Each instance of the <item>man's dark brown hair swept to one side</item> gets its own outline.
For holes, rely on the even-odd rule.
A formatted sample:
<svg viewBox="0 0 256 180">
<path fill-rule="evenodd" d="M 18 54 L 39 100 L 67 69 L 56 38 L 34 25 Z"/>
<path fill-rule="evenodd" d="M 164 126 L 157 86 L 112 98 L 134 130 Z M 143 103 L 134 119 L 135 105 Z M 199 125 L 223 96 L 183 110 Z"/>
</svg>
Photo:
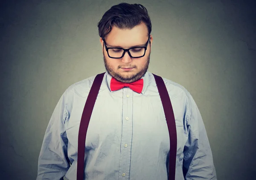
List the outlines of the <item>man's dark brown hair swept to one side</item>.
<svg viewBox="0 0 256 180">
<path fill-rule="evenodd" d="M 97 24 L 99 36 L 104 38 L 108 35 L 113 26 L 117 28 L 134 28 L 140 23 L 145 23 L 148 27 L 148 36 L 151 33 L 151 20 L 147 9 L 141 4 L 120 3 L 112 6 Z"/>
</svg>

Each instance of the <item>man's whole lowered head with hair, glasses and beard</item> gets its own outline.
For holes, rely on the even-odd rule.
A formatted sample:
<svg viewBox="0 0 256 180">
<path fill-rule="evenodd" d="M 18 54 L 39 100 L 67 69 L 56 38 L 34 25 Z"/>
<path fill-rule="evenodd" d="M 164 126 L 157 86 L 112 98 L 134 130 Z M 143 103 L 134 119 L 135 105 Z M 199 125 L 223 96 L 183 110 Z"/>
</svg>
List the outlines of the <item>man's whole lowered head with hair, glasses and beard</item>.
<svg viewBox="0 0 256 180">
<path fill-rule="evenodd" d="M 151 21 L 146 8 L 127 3 L 112 6 L 98 27 L 108 73 L 126 83 L 140 79 L 148 70 L 152 43 Z M 118 48 L 134 49 L 123 53 Z"/>
</svg>

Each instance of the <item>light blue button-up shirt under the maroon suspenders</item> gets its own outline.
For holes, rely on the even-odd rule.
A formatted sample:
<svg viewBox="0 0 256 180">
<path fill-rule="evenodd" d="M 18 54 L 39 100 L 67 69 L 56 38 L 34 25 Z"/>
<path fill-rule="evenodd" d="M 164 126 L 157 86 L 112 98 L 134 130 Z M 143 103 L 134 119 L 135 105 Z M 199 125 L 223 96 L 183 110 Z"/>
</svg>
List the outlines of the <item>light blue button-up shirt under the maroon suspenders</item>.
<svg viewBox="0 0 256 180">
<path fill-rule="evenodd" d="M 37 180 L 76 180 L 81 115 L 95 76 L 63 93 L 50 118 L 38 160 Z M 152 73 L 143 91 L 111 91 L 105 73 L 85 142 L 86 180 L 167 180 L 169 131 Z M 176 180 L 216 180 L 212 152 L 189 92 L 164 79 L 177 129 Z"/>
</svg>

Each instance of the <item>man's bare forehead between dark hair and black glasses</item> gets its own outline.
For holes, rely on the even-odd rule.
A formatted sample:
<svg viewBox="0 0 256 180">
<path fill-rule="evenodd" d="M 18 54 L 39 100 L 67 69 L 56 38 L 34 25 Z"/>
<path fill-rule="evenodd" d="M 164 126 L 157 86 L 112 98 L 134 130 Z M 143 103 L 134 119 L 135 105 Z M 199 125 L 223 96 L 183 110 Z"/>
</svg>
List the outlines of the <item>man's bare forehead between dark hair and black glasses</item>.
<svg viewBox="0 0 256 180">
<path fill-rule="evenodd" d="M 120 29 L 113 26 L 105 40 L 108 46 L 129 48 L 135 45 L 142 45 L 148 40 L 148 28 L 144 23 L 131 29 Z"/>
</svg>

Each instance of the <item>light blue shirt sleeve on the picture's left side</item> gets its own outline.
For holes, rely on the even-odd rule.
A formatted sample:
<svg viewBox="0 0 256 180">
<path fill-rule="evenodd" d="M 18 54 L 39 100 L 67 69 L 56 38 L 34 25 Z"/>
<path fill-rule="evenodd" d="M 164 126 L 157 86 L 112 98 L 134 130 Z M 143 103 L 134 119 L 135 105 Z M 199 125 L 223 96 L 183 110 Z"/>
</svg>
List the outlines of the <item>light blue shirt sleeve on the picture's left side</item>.
<svg viewBox="0 0 256 180">
<path fill-rule="evenodd" d="M 70 167 L 67 156 L 67 135 L 65 130 L 65 93 L 56 105 L 47 126 L 38 158 L 36 180 L 63 180 Z"/>
</svg>

